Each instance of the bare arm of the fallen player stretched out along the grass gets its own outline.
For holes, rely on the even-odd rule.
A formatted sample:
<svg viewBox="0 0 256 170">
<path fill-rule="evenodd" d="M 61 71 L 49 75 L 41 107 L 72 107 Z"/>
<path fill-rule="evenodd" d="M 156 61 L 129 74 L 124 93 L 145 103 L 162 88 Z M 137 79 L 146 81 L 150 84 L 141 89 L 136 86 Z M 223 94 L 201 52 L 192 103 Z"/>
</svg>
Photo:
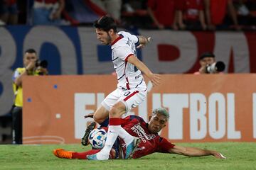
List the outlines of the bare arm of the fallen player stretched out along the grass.
<svg viewBox="0 0 256 170">
<path fill-rule="evenodd" d="M 218 159 L 225 159 L 223 154 L 220 154 L 219 152 L 216 152 L 213 150 L 200 149 L 197 147 L 174 146 L 174 148 L 169 149 L 169 152 L 174 154 L 182 154 L 188 157 L 201 157 L 201 156 L 212 155 Z"/>
</svg>

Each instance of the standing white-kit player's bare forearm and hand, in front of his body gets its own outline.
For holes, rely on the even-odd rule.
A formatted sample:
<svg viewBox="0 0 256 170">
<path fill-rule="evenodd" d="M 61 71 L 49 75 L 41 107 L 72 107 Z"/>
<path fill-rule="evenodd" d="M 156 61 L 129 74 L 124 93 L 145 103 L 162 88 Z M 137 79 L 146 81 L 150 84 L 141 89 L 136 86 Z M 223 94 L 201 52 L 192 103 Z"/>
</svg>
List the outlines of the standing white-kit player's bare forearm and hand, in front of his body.
<svg viewBox="0 0 256 170">
<path fill-rule="evenodd" d="M 137 59 L 137 57 L 135 57 L 134 55 L 130 56 L 128 58 L 128 62 L 134 64 L 134 66 L 136 66 L 140 71 L 142 71 L 146 75 L 146 77 L 149 78 L 153 86 L 158 86 L 160 84 L 160 75 L 152 73 L 143 62 Z"/>
</svg>

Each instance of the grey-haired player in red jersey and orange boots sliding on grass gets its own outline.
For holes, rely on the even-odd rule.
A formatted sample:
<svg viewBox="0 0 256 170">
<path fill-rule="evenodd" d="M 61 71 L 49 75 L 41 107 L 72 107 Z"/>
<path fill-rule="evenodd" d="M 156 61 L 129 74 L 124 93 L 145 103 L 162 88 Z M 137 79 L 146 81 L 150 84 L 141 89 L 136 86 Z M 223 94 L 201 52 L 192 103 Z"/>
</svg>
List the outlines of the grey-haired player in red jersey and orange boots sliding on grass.
<svg viewBox="0 0 256 170">
<path fill-rule="evenodd" d="M 225 159 L 223 154 L 213 150 L 200 149 L 196 147 L 181 147 L 174 145 L 160 137 L 158 132 L 166 126 L 169 120 L 169 113 L 164 108 L 157 108 L 149 117 L 149 123 L 146 123 L 142 118 L 137 115 L 129 115 L 122 121 L 122 128 L 134 136 L 139 137 L 141 142 L 135 149 L 134 153 L 130 156 L 134 159 L 144 157 L 154 152 L 182 154 L 188 157 L 199 157 L 213 155 L 219 159 Z M 123 159 L 125 157 L 125 146 L 122 145 L 122 139 L 119 139 L 119 148 L 113 148 L 110 152 L 110 159 Z M 87 152 L 71 152 L 65 149 L 55 149 L 53 154 L 59 158 L 65 159 L 87 159 L 87 155 L 100 152 L 100 149 L 92 149 Z"/>
</svg>

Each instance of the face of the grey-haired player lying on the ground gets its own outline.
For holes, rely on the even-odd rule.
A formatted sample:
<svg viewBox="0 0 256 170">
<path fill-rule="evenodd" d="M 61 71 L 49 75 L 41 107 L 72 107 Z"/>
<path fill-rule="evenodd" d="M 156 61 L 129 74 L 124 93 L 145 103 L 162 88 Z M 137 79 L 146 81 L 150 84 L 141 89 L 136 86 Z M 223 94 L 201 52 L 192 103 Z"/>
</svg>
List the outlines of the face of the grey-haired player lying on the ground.
<svg viewBox="0 0 256 170">
<path fill-rule="evenodd" d="M 149 118 L 149 131 L 152 133 L 158 133 L 166 126 L 166 123 L 166 116 L 156 113 L 156 115 Z"/>
</svg>

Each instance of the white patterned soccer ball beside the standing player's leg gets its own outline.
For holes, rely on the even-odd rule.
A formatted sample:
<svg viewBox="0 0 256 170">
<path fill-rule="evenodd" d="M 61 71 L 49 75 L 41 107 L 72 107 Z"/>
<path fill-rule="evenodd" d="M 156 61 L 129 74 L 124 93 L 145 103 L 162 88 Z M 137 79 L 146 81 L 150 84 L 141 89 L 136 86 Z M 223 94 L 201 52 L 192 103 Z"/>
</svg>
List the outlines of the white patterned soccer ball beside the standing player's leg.
<svg viewBox="0 0 256 170">
<path fill-rule="evenodd" d="M 107 132 L 104 129 L 96 128 L 89 134 L 89 142 L 95 149 L 102 149 L 107 140 Z"/>
</svg>

